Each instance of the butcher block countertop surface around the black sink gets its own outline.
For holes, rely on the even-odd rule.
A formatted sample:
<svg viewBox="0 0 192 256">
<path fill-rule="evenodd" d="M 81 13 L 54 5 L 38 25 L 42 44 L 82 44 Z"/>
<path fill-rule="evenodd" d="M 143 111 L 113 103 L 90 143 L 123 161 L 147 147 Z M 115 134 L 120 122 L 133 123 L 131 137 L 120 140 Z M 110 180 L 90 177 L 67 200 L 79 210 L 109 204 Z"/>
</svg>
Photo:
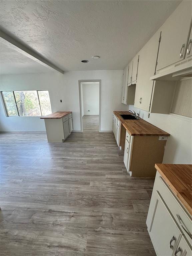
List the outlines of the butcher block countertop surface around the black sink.
<svg viewBox="0 0 192 256">
<path fill-rule="evenodd" d="M 113 111 L 125 129 L 131 136 L 170 136 L 169 133 L 139 118 L 134 120 L 124 120 L 120 115 L 132 115 L 128 111 Z"/>
</svg>

